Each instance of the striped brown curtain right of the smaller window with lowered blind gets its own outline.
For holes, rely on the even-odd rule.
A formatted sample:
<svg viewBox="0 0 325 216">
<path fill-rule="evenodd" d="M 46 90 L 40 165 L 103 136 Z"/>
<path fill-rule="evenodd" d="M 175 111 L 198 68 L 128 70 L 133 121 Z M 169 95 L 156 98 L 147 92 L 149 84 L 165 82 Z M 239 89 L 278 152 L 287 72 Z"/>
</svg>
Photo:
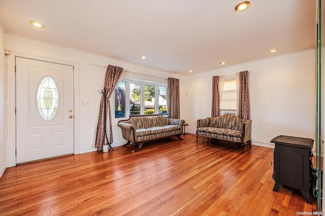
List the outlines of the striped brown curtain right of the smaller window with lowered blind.
<svg viewBox="0 0 325 216">
<path fill-rule="evenodd" d="M 239 73 L 238 117 L 250 119 L 249 72 L 247 70 Z"/>
</svg>

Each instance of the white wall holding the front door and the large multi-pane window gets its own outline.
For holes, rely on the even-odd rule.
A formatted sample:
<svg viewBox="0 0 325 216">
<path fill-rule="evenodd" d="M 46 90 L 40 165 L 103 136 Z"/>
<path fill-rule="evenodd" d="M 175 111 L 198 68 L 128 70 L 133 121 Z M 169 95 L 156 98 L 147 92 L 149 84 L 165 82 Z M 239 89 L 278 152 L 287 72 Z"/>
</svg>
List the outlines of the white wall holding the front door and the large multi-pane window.
<svg viewBox="0 0 325 216">
<path fill-rule="evenodd" d="M 79 114 L 76 116 L 76 118 L 79 120 L 78 139 L 80 153 L 94 151 L 92 144 L 94 141 L 95 128 L 98 120 L 98 108 L 101 99 L 101 94 L 99 91 L 102 89 L 102 83 L 106 73 L 105 67 L 93 66 L 89 65 L 88 63 L 97 65 L 111 64 L 120 66 L 124 69 L 143 74 L 133 75 L 134 77 L 143 80 L 159 79 L 152 78 L 150 75 L 161 78 L 173 77 L 180 79 L 180 89 L 182 92 L 180 95 L 180 105 L 181 113 L 184 113 L 184 91 L 182 91 L 182 89 L 185 86 L 184 82 L 186 78 L 181 75 L 144 67 L 137 64 L 127 63 L 104 56 L 73 50 L 66 47 L 56 46 L 42 41 L 23 38 L 13 34 L 6 34 L 6 49 L 11 50 L 11 52 L 14 54 L 20 53 L 30 55 L 32 58 L 49 58 L 53 59 L 53 61 L 59 60 L 78 64 L 78 70 L 75 71 L 75 73 L 78 73 L 79 77 L 79 92 L 77 92 L 79 94 L 79 98 L 75 99 L 79 101 L 79 105 L 77 107 L 79 109 Z M 11 72 L 9 71 L 9 73 Z M 112 99 L 112 101 L 114 101 L 114 98 Z M 89 101 L 89 106 L 81 106 L 81 101 L 85 100 Z M 181 114 L 181 118 L 184 118 L 183 114 Z M 114 142 L 112 146 L 114 147 L 124 144 L 125 140 L 122 138 L 120 128 L 117 127 L 117 122 L 113 122 L 113 125 Z M 15 144 L 9 143 L 9 145 Z"/>
</svg>

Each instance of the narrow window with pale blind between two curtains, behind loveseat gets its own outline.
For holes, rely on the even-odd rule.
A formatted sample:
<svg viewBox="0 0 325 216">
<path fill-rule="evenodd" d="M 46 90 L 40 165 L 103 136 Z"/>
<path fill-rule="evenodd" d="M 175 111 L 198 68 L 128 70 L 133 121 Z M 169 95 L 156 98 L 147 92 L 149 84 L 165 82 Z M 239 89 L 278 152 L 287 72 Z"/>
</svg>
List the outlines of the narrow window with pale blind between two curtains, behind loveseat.
<svg viewBox="0 0 325 216">
<path fill-rule="evenodd" d="M 220 115 L 223 114 L 237 115 L 237 85 L 234 78 L 224 81 L 220 101 Z"/>
</svg>

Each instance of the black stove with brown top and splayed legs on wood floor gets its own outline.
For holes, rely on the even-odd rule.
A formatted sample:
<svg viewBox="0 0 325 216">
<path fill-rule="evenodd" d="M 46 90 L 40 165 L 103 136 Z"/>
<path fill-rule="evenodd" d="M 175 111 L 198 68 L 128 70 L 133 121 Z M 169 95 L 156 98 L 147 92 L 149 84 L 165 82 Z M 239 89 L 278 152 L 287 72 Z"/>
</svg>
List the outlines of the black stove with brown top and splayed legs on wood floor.
<svg viewBox="0 0 325 216">
<path fill-rule="evenodd" d="M 275 185 L 278 191 L 281 185 L 300 190 L 305 201 L 311 202 L 310 177 L 312 172 L 313 139 L 280 135 L 271 140 L 274 148 Z"/>
</svg>

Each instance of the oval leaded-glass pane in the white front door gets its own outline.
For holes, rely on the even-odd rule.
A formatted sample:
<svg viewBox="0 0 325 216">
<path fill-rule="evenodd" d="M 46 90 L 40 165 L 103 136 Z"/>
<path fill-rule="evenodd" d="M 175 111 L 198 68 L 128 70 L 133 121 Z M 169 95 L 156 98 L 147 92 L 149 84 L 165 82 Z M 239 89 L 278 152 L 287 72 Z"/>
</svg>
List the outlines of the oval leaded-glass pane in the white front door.
<svg viewBox="0 0 325 216">
<path fill-rule="evenodd" d="M 36 100 L 41 117 L 46 121 L 53 119 L 57 113 L 59 95 L 57 85 L 51 77 L 44 77 L 41 80 Z"/>
</svg>

